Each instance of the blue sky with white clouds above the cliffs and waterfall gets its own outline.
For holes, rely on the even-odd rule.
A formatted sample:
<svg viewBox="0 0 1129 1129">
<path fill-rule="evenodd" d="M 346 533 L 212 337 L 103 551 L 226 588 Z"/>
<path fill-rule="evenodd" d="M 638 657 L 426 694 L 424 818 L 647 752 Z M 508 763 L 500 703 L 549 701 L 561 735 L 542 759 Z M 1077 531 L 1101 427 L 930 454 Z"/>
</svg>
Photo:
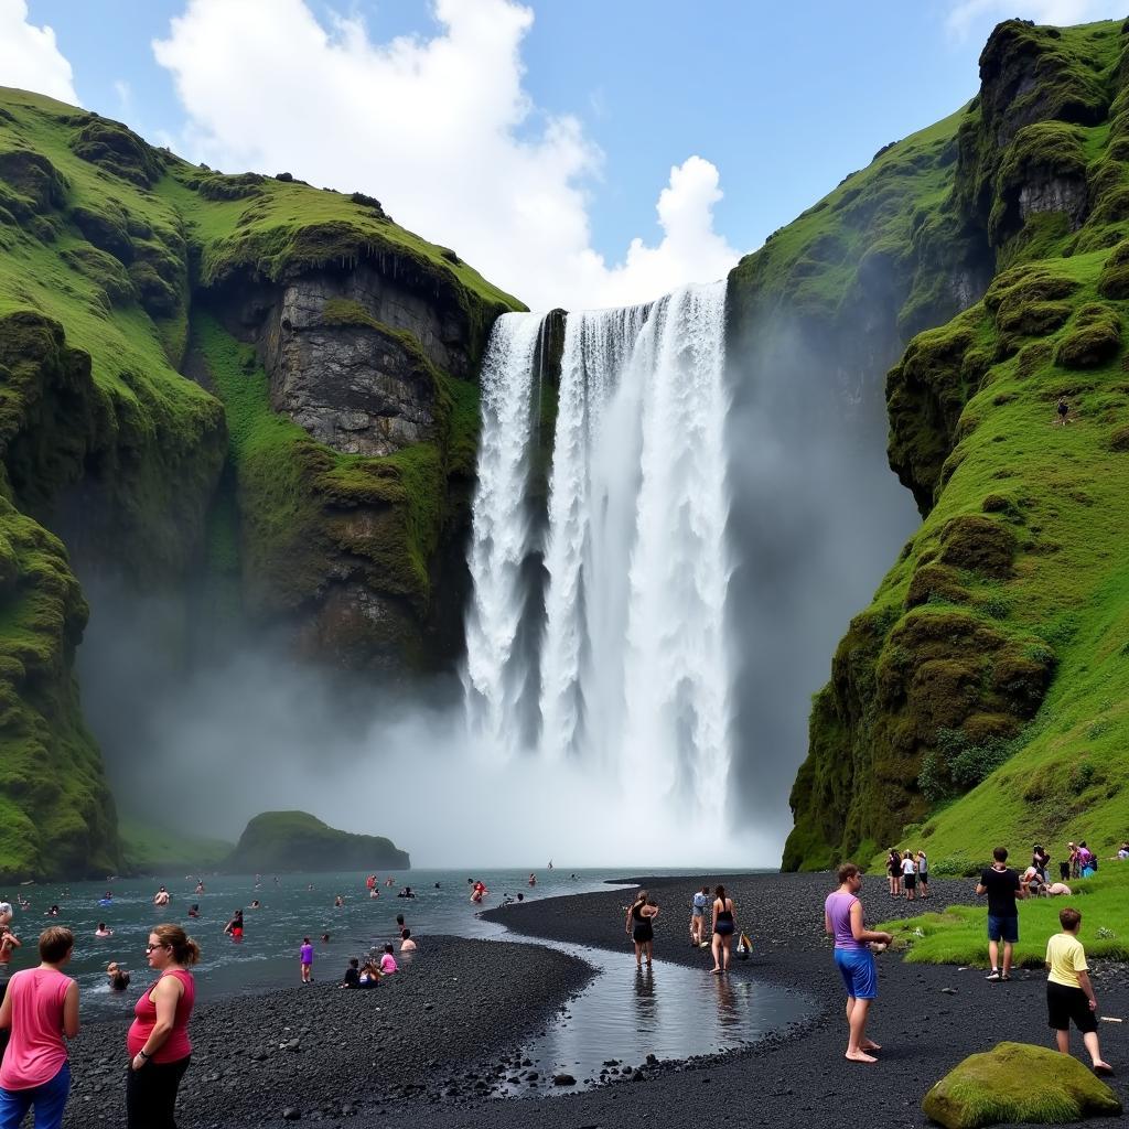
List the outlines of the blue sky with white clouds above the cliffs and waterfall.
<svg viewBox="0 0 1129 1129">
<path fill-rule="evenodd" d="M 881 146 L 971 97 L 998 19 L 1118 15 L 1102 0 L 524 7 L 532 24 L 507 0 L 0 0 L 9 19 L 23 8 L 54 30 L 84 105 L 225 170 L 281 161 L 364 189 L 532 305 L 572 306 L 723 272 Z M 461 32 L 467 9 L 489 18 Z M 514 12 L 519 28 L 498 18 Z M 414 49 L 382 78 L 395 36 Z M 161 61 L 154 41 L 172 44 Z M 30 85 L 26 52 L 8 65 Z M 0 49 L 0 84 L 14 81 Z M 465 121 L 448 120 L 463 103 Z M 348 130 L 323 128 L 342 119 Z M 660 228 L 659 192 L 694 156 Z"/>
</svg>

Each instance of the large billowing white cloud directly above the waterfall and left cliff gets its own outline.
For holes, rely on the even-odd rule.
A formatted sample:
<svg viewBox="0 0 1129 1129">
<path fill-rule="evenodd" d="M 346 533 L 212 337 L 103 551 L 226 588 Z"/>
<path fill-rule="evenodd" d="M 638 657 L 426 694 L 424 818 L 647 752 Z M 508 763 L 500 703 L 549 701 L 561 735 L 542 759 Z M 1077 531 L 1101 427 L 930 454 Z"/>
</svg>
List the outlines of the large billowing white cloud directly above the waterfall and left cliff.
<svg viewBox="0 0 1129 1129">
<path fill-rule="evenodd" d="M 724 274 L 717 169 L 691 157 L 658 202 L 662 240 L 609 265 L 592 247 L 587 185 L 602 155 L 570 115 L 523 88 L 533 14 L 513 0 L 436 0 L 439 32 L 379 43 L 358 19 L 324 26 L 305 0 L 189 0 L 154 43 L 191 121 L 191 156 L 288 170 L 378 196 L 535 308 L 619 305 Z"/>
</svg>

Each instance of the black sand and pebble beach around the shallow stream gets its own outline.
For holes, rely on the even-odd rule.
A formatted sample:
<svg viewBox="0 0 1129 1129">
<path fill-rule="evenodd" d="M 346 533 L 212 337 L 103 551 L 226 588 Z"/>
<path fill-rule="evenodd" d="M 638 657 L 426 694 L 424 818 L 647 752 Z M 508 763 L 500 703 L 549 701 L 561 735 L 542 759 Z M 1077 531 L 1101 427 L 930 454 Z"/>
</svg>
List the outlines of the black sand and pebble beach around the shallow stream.
<svg viewBox="0 0 1129 1129">
<path fill-rule="evenodd" d="M 688 944 L 684 909 L 701 882 L 654 878 L 646 884 L 666 908 L 656 930 L 656 959 L 701 968 L 704 990 L 711 962 L 706 951 Z M 830 1129 L 844 1119 L 867 1127 L 919 1127 L 927 1123 L 920 1112 L 926 1089 L 965 1056 L 1005 1039 L 1050 1044 L 1041 973 L 1021 970 L 1010 983 L 987 983 L 982 969 L 909 965 L 883 956 L 868 1032 L 883 1045 L 881 1061 L 847 1062 L 842 986 L 822 929 L 830 885 L 829 875 L 727 879 L 738 924 L 754 942 L 753 959 L 734 962 L 730 975 L 802 988 L 819 1000 L 817 1014 L 788 1038 L 689 1064 L 630 1064 L 641 1067 L 631 1082 L 585 1093 L 490 1099 L 509 1053 L 543 1030 L 585 983 L 586 966 L 540 947 L 432 939 L 414 968 L 375 991 L 315 984 L 201 1007 L 178 1122 L 185 1129 L 281 1127 L 299 1114 L 304 1122 L 345 1115 L 352 1124 L 385 1129 L 534 1123 L 581 1129 L 640 1119 L 669 1129 L 717 1121 Z M 881 877 L 868 878 L 863 892 L 867 920 L 970 900 L 966 879 L 930 886 L 933 898 L 925 903 L 895 903 Z M 615 889 L 488 916 L 528 937 L 624 952 L 625 901 L 625 891 Z M 1095 962 L 1093 974 L 1103 1013 L 1129 1018 L 1129 969 Z M 1123 1102 L 1129 1102 L 1127 1029 L 1129 1023 L 1101 1025 L 1103 1052 L 1119 1071 L 1112 1084 Z M 299 1040 L 296 1050 L 280 1049 L 294 1039 Z M 124 1024 L 84 1032 L 72 1059 L 68 1126 L 121 1123 L 116 1051 L 123 1040 Z M 1077 1036 L 1075 1042 L 1084 1053 Z M 290 1118 L 283 1119 L 285 1110 Z"/>
</svg>

